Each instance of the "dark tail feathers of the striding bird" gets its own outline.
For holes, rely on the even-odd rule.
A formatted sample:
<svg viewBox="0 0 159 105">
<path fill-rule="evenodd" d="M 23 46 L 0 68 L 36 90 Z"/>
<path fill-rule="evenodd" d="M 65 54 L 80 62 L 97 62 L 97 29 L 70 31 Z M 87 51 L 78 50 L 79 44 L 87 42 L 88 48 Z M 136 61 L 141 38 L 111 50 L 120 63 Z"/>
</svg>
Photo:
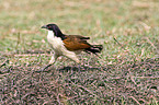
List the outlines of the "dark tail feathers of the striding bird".
<svg viewBox="0 0 159 105">
<path fill-rule="evenodd" d="M 103 49 L 102 45 L 92 45 L 90 48 L 87 48 L 86 51 L 88 54 L 93 52 L 96 55 L 96 52 L 101 52 L 102 49 Z"/>
</svg>

